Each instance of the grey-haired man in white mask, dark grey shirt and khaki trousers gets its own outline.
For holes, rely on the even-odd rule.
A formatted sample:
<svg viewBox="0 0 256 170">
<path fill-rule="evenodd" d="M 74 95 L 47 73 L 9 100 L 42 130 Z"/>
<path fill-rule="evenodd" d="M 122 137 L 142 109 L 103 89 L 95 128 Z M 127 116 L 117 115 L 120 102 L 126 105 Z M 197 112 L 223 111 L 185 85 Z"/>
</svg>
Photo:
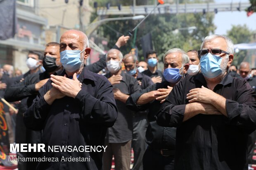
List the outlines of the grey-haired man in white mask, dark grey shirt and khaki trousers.
<svg viewBox="0 0 256 170">
<path fill-rule="evenodd" d="M 114 97 L 118 108 L 118 117 L 113 127 L 108 129 L 107 151 L 104 153 L 104 170 L 111 169 L 112 157 L 115 170 L 130 169 L 131 140 L 133 138 L 133 111 L 125 102 L 129 95 L 140 90 L 137 80 L 122 71 L 123 54 L 117 49 L 110 49 L 106 55 L 107 69 L 105 75 L 113 85 Z M 115 79 L 119 78 L 119 79 Z"/>
</svg>

